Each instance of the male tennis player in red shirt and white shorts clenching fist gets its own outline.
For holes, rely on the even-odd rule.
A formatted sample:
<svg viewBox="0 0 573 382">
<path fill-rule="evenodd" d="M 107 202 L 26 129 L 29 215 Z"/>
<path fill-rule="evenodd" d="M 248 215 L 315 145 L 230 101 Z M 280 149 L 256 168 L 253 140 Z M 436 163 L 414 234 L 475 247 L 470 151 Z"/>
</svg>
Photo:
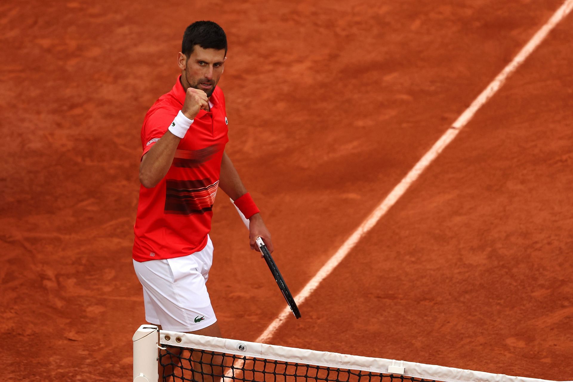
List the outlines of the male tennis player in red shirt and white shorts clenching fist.
<svg viewBox="0 0 573 382">
<path fill-rule="evenodd" d="M 205 283 L 213 262 L 209 238 L 220 187 L 249 220 L 251 249 L 270 233 L 225 153 L 225 97 L 217 86 L 227 54 L 223 29 L 198 21 L 185 30 L 181 75 L 147 112 L 133 259 L 146 320 L 165 330 L 221 336 Z"/>
</svg>

